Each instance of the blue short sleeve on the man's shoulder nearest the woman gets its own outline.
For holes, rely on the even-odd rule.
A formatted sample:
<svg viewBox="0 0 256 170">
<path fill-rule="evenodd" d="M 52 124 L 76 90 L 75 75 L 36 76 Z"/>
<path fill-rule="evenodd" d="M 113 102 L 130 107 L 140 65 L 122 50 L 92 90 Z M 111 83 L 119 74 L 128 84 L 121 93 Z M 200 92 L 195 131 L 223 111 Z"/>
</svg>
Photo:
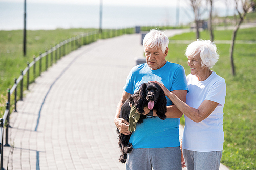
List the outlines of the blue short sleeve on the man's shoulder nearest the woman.
<svg viewBox="0 0 256 170">
<path fill-rule="evenodd" d="M 179 66 L 175 70 L 175 74 L 172 78 L 172 87 L 171 87 L 170 91 L 174 91 L 174 90 L 187 90 L 187 92 L 189 92 L 188 86 L 187 86 L 185 70 L 182 66 Z"/>
</svg>

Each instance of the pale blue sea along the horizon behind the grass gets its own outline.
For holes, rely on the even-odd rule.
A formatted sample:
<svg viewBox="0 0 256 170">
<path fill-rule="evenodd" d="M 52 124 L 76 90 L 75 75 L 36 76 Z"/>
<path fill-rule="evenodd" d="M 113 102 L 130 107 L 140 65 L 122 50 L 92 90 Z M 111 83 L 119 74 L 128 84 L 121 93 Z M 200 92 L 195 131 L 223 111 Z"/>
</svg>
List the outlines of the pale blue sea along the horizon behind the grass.
<svg viewBox="0 0 256 170">
<path fill-rule="evenodd" d="M 70 4 L 27 3 L 27 29 L 98 28 L 99 6 Z M 125 28 L 187 24 L 193 21 L 190 9 L 180 8 L 176 20 L 176 7 L 104 6 L 102 28 Z M 225 16 L 226 9 L 216 9 Z M 229 10 L 228 15 L 233 15 Z M 208 14 L 204 15 L 207 18 Z M 17 30 L 24 27 L 24 3 L 0 2 L 0 30 Z"/>
</svg>

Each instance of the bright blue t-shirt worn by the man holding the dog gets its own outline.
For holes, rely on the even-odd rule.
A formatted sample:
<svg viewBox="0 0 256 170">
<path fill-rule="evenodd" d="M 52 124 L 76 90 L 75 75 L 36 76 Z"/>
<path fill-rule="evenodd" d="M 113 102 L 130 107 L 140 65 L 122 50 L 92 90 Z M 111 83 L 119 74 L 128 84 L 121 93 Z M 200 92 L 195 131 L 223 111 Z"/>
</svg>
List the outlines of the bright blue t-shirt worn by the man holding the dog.
<svg viewBox="0 0 256 170">
<path fill-rule="evenodd" d="M 123 89 L 127 93 L 133 94 L 138 91 L 141 84 L 154 80 L 163 83 L 170 91 L 188 91 L 184 68 L 168 61 L 157 70 L 150 69 L 146 63 L 133 67 Z M 167 98 L 167 106 L 169 105 L 172 105 L 172 101 Z M 133 148 L 178 147 L 180 145 L 179 124 L 179 118 L 144 119 L 143 123 L 137 124 L 129 142 L 132 143 Z"/>
</svg>

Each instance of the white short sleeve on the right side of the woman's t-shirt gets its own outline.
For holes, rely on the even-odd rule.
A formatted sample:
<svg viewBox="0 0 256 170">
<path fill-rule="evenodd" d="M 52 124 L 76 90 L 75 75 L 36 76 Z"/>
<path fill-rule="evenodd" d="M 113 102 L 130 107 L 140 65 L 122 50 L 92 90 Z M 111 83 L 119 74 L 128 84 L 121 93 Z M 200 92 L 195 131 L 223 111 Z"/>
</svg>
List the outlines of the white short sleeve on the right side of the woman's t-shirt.
<svg viewBox="0 0 256 170">
<path fill-rule="evenodd" d="M 211 86 L 205 99 L 217 102 L 219 103 L 218 105 L 224 105 L 225 97 L 226 97 L 226 83 L 225 83 L 225 80 L 220 80 Z"/>
</svg>

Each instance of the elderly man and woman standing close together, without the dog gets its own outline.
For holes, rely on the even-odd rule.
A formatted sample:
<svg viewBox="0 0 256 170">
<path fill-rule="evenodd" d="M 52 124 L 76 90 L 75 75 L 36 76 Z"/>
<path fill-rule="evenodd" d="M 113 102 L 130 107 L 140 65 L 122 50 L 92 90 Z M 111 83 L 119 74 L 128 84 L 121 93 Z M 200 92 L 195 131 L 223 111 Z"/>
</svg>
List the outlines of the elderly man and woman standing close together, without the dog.
<svg viewBox="0 0 256 170">
<path fill-rule="evenodd" d="M 177 170 L 184 166 L 188 170 L 219 169 L 226 85 L 222 77 L 210 70 L 219 58 L 216 45 L 209 40 L 188 45 L 185 54 L 191 73 L 186 77 L 181 65 L 165 60 L 168 44 L 168 37 L 161 31 L 151 30 L 145 36 L 146 63 L 130 71 L 118 103 L 115 125 L 128 135 L 129 122 L 119 118 L 126 99 L 148 81 L 159 84 L 167 96 L 167 118 L 161 120 L 153 110 L 156 117 L 145 119 L 132 133 L 129 142 L 133 150 L 127 154 L 126 169 Z M 147 107 L 144 111 L 149 112 Z M 182 114 L 185 127 L 181 148 L 179 118 Z"/>
</svg>

